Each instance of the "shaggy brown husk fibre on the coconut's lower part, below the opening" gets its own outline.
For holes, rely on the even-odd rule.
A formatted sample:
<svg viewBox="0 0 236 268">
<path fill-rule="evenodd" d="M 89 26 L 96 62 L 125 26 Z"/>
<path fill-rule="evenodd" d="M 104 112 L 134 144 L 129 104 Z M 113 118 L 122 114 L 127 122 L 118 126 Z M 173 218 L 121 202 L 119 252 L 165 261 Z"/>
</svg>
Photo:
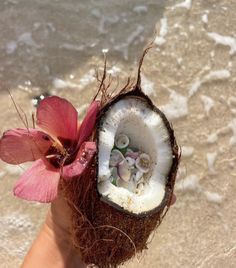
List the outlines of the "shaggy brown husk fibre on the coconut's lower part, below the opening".
<svg viewBox="0 0 236 268">
<path fill-rule="evenodd" d="M 160 224 L 172 198 L 169 189 L 166 206 L 143 217 L 106 204 L 97 191 L 96 157 L 81 177 L 67 183 L 65 194 L 72 210 L 74 247 L 86 264 L 99 268 L 118 267 L 146 249 L 149 235 Z"/>
</svg>

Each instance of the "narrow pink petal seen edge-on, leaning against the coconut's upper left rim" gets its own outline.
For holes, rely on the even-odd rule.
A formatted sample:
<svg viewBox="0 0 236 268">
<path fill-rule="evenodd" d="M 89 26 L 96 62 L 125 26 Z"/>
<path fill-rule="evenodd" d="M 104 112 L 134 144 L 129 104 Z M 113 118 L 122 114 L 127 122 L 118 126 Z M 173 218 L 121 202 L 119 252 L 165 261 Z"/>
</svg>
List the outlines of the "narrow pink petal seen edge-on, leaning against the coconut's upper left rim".
<svg viewBox="0 0 236 268">
<path fill-rule="evenodd" d="M 94 101 L 91 103 L 91 105 L 88 108 L 88 111 L 86 113 L 86 116 L 80 126 L 79 129 L 79 141 L 78 141 L 78 147 L 88 140 L 88 138 L 91 136 L 95 123 L 96 118 L 98 115 L 100 109 L 100 102 Z"/>
</svg>

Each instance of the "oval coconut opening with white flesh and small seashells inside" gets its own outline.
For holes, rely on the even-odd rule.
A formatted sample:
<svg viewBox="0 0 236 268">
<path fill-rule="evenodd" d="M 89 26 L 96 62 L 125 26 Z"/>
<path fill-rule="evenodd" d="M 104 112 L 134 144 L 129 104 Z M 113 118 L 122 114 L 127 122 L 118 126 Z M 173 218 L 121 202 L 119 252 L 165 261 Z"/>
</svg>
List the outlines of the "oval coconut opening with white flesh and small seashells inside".
<svg viewBox="0 0 236 268">
<path fill-rule="evenodd" d="M 98 132 L 98 192 L 134 214 L 156 210 L 175 158 L 172 131 L 145 95 L 124 95 L 106 109 Z"/>
</svg>

